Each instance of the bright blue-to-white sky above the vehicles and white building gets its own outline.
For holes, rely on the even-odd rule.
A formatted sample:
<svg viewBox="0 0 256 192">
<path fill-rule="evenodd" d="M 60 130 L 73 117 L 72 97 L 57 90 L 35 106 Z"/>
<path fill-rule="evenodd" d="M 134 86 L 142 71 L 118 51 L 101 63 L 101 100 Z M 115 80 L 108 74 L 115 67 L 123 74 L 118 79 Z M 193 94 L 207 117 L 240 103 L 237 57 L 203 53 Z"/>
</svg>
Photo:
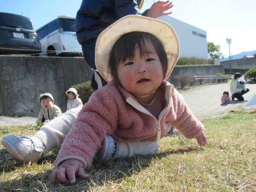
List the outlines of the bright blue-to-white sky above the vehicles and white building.
<svg viewBox="0 0 256 192">
<path fill-rule="evenodd" d="M 60 15 L 76 17 L 82 0 L 0 0 L 0 12 L 32 19 L 35 29 Z M 171 17 L 203 29 L 207 41 L 229 54 L 226 38 L 231 38 L 230 54 L 256 50 L 256 0 L 172 0 Z M 154 0 L 145 0 L 142 11 Z"/>
</svg>

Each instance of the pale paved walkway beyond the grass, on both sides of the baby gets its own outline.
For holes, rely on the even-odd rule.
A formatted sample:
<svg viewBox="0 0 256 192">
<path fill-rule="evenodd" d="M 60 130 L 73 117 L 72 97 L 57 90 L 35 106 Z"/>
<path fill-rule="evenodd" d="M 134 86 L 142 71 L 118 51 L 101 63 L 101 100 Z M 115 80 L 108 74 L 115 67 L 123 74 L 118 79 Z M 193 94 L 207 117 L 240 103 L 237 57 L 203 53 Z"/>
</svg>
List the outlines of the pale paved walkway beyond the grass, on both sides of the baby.
<svg viewBox="0 0 256 192">
<path fill-rule="evenodd" d="M 203 85 L 187 90 L 182 90 L 186 103 L 195 116 L 201 120 L 209 117 L 220 116 L 234 110 L 256 111 L 256 84 L 246 84 L 250 91 L 244 94 L 244 101 L 232 100 L 230 104 L 221 105 L 222 93 L 227 90 L 230 93 L 228 83 Z M 35 125 L 36 117 L 7 117 L 0 116 L 0 125 Z"/>
</svg>

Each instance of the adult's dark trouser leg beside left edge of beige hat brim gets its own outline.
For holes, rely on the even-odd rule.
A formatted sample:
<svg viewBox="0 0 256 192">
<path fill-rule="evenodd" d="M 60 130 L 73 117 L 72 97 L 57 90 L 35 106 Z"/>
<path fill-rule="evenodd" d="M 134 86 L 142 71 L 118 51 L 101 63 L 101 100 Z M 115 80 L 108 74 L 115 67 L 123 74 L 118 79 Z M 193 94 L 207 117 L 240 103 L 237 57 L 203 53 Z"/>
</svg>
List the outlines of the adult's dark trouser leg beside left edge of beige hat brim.
<svg viewBox="0 0 256 192">
<path fill-rule="evenodd" d="M 96 70 L 95 65 L 95 45 L 96 45 L 97 39 L 91 39 L 89 41 L 85 41 L 82 44 L 82 50 L 84 53 L 84 59 L 87 62 L 87 64 L 90 65 L 90 67 L 93 70 L 93 77 L 92 77 L 92 87 L 94 90 L 99 89 L 100 87 L 105 86 L 108 84 L 108 82 L 99 74 L 99 72 Z"/>
</svg>

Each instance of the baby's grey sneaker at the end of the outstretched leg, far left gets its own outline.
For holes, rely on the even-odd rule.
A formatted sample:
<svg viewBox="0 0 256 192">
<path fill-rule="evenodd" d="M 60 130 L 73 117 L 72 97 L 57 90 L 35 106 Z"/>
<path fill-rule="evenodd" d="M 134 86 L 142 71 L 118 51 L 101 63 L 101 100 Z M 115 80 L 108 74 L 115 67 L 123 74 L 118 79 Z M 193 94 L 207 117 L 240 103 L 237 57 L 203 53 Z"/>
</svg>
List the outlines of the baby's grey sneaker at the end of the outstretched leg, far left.
<svg viewBox="0 0 256 192">
<path fill-rule="evenodd" d="M 35 162 L 46 154 L 46 149 L 41 140 L 32 135 L 26 137 L 9 135 L 3 138 L 2 144 L 9 154 L 26 163 L 29 161 Z"/>
</svg>

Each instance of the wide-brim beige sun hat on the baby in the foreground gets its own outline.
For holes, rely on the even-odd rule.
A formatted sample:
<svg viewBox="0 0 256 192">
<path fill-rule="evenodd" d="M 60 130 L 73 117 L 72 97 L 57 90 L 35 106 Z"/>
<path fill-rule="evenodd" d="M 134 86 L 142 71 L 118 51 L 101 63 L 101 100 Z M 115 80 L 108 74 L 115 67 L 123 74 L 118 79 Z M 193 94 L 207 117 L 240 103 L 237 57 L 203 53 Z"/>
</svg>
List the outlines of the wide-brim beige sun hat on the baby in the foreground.
<svg viewBox="0 0 256 192">
<path fill-rule="evenodd" d="M 122 17 L 99 35 L 95 47 L 95 64 L 102 77 L 108 82 L 112 80 L 108 69 L 110 52 L 116 41 L 129 32 L 148 32 L 163 44 L 168 58 L 164 80 L 168 79 L 180 55 L 180 44 L 175 30 L 164 21 L 141 15 Z"/>
</svg>

